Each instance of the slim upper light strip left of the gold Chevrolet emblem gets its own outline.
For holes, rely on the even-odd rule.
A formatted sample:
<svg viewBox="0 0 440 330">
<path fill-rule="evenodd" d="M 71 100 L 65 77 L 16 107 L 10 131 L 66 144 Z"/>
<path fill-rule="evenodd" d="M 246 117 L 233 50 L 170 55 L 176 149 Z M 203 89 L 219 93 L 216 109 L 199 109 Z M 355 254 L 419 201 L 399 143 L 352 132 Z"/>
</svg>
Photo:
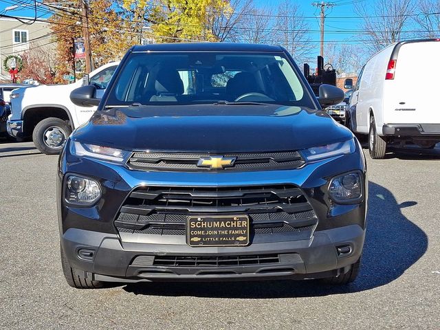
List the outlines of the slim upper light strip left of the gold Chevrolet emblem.
<svg viewBox="0 0 440 330">
<path fill-rule="evenodd" d="M 110 148 L 108 146 L 96 146 L 95 144 L 86 144 L 74 141 L 70 147 L 70 153 L 76 156 L 88 156 L 111 162 L 122 163 L 129 157 L 130 152 L 121 149 Z"/>
</svg>

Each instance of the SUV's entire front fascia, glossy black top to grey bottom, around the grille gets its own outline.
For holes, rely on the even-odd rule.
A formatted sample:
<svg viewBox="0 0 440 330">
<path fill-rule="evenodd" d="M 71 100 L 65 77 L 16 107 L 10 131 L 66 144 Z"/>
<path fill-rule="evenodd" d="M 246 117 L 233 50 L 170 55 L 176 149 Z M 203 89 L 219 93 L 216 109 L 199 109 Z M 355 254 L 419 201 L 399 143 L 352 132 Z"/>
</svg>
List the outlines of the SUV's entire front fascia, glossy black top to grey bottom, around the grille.
<svg viewBox="0 0 440 330">
<path fill-rule="evenodd" d="M 69 144 L 65 146 L 65 149 Z M 318 278 L 347 272 L 360 258 L 364 243 L 366 196 L 359 204 L 337 205 L 329 201 L 332 177 L 358 170 L 366 184 L 366 164 L 360 146 L 350 155 L 306 164 L 295 170 L 236 173 L 177 173 L 130 170 L 125 166 L 77 158 L 63 153 L 58 172 L 58 219 L 61 243 L 70 265 L 97 281 L 209 281 L 252 278 Z M 80 173 L 99 182 L 102 199 L 92 207 L 66 203 L 67 175 Z M 290 184 L 299 187 L 316 214 L 317 225 L 310 235 L 299 232 L 255 234 L 244 247 L 194 248 L 181 234 L 118 232 L 115 219 L 133 190 L 158 187 L 240 187 Z M 122 212 L 122 211 L 121 211 Z M 342 248 L 342 251 L 338 251 Z M 206 265 L 206 259 L 221 261 L 265 258 L 276 261 L 252 264 L 231 261 L 228 265 Z M 201 258 L 201 264 L 157 263 L 157 258 Z M 217 259 L 216 259 L 217 260 Z"/>
</svg>

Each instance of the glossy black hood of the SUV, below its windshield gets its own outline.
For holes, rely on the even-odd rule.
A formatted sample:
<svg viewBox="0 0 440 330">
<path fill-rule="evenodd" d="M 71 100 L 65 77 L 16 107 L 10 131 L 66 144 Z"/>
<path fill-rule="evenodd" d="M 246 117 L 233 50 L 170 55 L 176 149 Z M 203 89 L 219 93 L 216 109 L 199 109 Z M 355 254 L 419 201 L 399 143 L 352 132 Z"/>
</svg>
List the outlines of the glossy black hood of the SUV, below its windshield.
<svg viewBox="0 0 440 330">
<path fill-rule="evenodd" d="M 125 150 L 293 151 L 353 137 L 327 113 L 300 107 L 197 104 L 96 111 L 72 138 Z"/>
</svg>

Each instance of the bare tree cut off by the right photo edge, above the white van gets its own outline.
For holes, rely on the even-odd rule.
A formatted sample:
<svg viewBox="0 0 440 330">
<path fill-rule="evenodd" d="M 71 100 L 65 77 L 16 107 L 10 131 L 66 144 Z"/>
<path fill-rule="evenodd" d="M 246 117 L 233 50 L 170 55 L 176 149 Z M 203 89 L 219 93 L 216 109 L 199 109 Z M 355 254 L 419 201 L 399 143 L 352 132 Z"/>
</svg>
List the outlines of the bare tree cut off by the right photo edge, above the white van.
<svg viewBox="0 0 440 330">
<path fill-rule="evenodd" d="M 419 14 L 415 17 L 415 21 L 422 30 L 417 34 L 423 38 L 438 38 L 440 36 L 440 0 L 419 0 L 417 12 Z"/>
</svg>

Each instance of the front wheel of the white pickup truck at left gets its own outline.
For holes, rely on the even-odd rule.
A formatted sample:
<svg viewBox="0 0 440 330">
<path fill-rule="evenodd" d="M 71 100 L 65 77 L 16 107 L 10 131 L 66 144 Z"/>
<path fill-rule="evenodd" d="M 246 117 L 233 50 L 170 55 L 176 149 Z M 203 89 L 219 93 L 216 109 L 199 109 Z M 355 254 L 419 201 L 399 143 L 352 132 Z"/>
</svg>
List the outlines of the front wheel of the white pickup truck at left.
<svg viewBox="0 0 440 330">
<path fill-rule="evenodd" d="M 61 153 L 61 149 L 72 133 L 72 129 L 64 120 L 59 118 L 46 118 L 36 124 L 32 140 L 39 151 L 46 155 Z"/>
</svg>

